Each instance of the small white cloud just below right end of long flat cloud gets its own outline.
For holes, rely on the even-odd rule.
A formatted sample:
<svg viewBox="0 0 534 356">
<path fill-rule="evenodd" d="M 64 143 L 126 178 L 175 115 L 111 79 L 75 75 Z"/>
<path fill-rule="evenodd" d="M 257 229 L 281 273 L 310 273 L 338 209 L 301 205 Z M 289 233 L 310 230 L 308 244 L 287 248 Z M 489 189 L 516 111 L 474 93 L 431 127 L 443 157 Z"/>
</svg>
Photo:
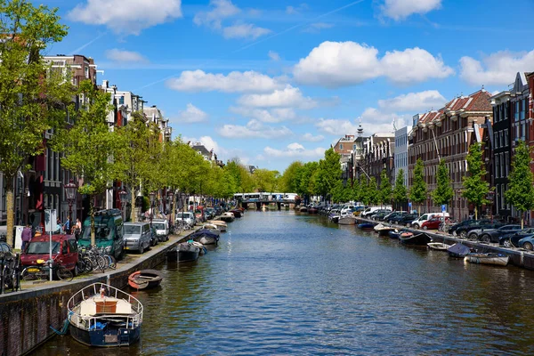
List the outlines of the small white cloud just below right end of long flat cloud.
<svg viewBox="0 0 534 356">
<path fill-rule="evenodd" d="M 256 108 L 299 108 L 312 109 L 317 105 L 310 97 L 304 97 L 299 88 L 286 85 L 283 90 L 266 94 L 247 94 L 238 99 L 242 106 Z"/>
</svg>

